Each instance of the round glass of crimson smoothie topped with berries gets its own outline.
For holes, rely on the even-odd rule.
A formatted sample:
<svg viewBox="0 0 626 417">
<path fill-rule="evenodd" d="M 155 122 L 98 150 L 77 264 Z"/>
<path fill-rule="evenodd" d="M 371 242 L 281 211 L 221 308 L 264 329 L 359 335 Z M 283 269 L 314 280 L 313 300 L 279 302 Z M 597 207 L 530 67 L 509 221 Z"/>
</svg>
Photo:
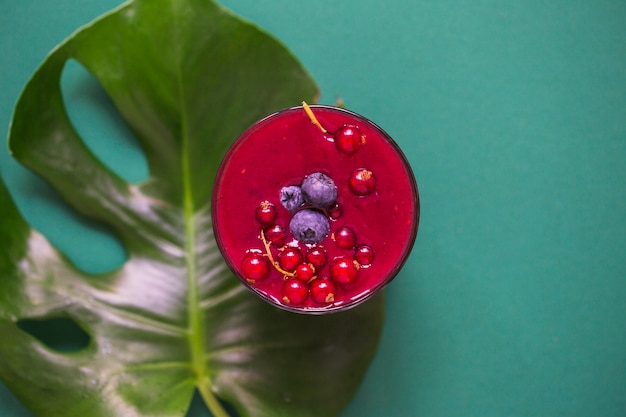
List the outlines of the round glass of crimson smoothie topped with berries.
<svg viewBox="0 0 626 417">
<path fill-rule="evenodd" d="M 419 198 L 382 129 L 340 108 L 306 107 L 266 117 L 233 144 L 216 178 L 213 228 L 252 291 L 321 314 L 353 307 L 395 277 L 415 241 Z"/>
</svg>

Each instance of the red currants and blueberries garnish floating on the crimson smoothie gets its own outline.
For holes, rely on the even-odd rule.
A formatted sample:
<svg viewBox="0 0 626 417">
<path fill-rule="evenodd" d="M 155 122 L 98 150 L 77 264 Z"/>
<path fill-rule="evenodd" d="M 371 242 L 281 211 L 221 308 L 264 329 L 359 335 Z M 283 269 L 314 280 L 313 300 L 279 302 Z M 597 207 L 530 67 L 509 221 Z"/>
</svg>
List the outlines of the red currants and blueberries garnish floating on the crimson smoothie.
<svg viewBox="0 0 626 417">
<path fill-rule="evenodd" d="M 309 116 L 341 153 L 352 155 L 365 144 L 358 127 L 344 125 L 329 136 L 315 116 Z M 347 185 L 353 195 L 364 197 L 376 190 L 376 177 L 371 170 L 359 168 Z M 277 204 L 265 200 L 255 208 L 263 249 L 246 252 L 240 268 L 244 279 L 251 285 L 281 279 L 280 294 L 274 296 L 289 306 L 327 306 L 339 301 L 338 292 L 357 281 L 361 268 L 371 266 L 374 251 L 359 244 L 348 226 L 337 225 L 331 233 L 331 224 L 342 217 L 335 181 L 313 172 L 300 184 L 282 187 L 277 197 L 290 217 L 288 230 L 282 226 L 287 222 L 278 219 Z"/>
</svg>

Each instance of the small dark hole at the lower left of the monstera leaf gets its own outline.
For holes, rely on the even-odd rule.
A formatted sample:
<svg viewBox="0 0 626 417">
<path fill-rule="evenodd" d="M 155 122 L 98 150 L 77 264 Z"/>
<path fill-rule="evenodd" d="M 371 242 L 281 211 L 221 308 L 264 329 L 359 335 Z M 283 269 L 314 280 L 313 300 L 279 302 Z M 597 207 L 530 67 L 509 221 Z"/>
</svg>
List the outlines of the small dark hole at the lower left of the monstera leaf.
<svg viewBox="0 0 626 417">
<path fill-rule="evenodd" d="M 63 353 L 78 352 L 89 346 L 91 337 L 74 320 L 65 317 L 23 319 L 17 327 L 50 349 Z"/>
</svg>

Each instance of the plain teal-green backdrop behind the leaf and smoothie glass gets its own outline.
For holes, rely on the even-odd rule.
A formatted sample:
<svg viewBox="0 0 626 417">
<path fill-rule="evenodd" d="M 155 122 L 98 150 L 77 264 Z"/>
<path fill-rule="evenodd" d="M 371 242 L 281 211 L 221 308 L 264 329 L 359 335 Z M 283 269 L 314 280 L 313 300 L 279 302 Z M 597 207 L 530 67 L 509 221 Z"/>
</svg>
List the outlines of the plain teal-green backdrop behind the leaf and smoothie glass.
<svg viewBox="0 0 626 417">
<path fill-rule="evenodd" d="M 3 132 L 47 52 L 117 4 L 2 0 Z M 222 4 L 284 42 L 322 102 L 342 97 L 387 130 L 420 187 L 415 249 L 342 417 L 626 416 L 626 2 Z M 81 77 L 65 77 L 77 103 Z M 72 112 L 94 143 L 119 129 L 88 106 Z M 101 153 L 141 177 L 127 149 L 119 140 Z M 77 263 L 119 260 L 110 236 L 73 217 L 6 147 L 0 173 L 26 218 Z M 102 259 L 85 258 L 87 244 Z M 206 415 L 197 405 L 190 415 Z M 2 385 L 0 415 L 31 416 Z"/>
</svg>

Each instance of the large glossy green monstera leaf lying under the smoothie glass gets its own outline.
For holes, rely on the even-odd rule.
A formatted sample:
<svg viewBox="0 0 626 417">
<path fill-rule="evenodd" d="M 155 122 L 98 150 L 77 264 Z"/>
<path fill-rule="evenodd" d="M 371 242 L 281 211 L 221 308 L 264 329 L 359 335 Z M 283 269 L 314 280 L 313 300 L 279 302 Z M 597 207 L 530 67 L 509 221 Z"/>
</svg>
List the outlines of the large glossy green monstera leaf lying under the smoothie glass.
<svg viewBox="0 0 626 417">
<path fill-rule="evenodd" d="M 136 135 L 146 181 L 113 174 L 72 127 L 59 81 L 70 59 Z M 329 316 L 279 311 L 226 268 L 210 218 L 230 143 L 316 94 L 280 44 L 208 0 L 125 3 L 46 58 L 17 104 L 11 151 L 110 228 L 128 259 L 79 270 L 0 184 L 0 377 L 36 415 L 183 416 L 195 390 L 216 417 L 340 412 L 374 354 L 380 297 Z M 53 319 L 79 326 L 87 346 L 60 351 L 19 325 Z"/>
</svg>

